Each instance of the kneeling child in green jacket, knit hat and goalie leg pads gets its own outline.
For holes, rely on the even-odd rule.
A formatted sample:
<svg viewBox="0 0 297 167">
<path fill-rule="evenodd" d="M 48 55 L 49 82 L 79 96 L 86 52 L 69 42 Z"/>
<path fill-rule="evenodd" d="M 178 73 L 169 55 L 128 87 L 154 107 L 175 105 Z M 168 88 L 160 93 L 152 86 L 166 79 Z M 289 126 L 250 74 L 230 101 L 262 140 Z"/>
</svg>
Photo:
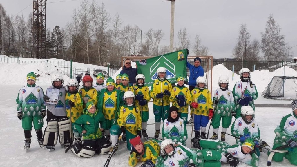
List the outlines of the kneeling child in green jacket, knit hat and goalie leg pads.
<svg viewBox="0 0 297 167">
<path fill-rule="evenodd" d="M 100 127 L 99 127 L 100 123 Z M 102 131 L 106 127 L 104 115 L 96 111 L 96 106 L 92 102 L 86 104 L 81 115 L 74 126 L 79 133 L 83 133 L 83 144 L 75 143 L 72 152 L 78 157 L 92 157 L 95 152 L 100 155 L 107 154 L 111 148 L 110 141 L 107 140 Z"/>
</svg>

